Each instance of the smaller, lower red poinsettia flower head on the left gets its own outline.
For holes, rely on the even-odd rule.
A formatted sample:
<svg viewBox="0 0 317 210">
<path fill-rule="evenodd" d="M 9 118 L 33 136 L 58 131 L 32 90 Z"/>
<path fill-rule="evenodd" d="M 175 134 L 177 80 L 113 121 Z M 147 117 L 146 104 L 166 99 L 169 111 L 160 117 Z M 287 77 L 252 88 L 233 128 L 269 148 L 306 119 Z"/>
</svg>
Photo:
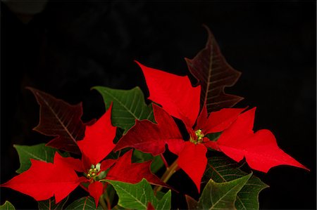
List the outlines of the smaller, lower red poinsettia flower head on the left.
<svg viewBox="0 0 317 210">
<path fill-rule="evenodd" d="M 47 163 L 31 159 L 29 170 L 15 176 L 2 187 L 12 188 L 26 195 L 34 197 L 37 201 L 49 199 L 53 195 L 56 203 L 65 198 L 80 183 L 89 183 L 88 192 L 94 197 L 96 206 L 99 197 L 104 192 L 104 184 L 99 182 L 99 174 L 111 168 L 106 178 L 115 181 L 138 183 L 146 178 L 150 183 L 166 185 L 150 171 L 151 162 L 131 163 L 132 150 L 116 159 L 105 159 L 115 147 L 113 138 L 116 136 L 116 127 L 111 125 L 111 107 L 92 126 L 87 126 L 85 138 L 77 141 L 82 152 L 82 159 L 61 157 L 57 152 L 54 163 Z M 102 161 L 102 162 L 101 162 Z M 85 177 L 78 177 L 76 172 L 83 172 Z"/>
</svg>

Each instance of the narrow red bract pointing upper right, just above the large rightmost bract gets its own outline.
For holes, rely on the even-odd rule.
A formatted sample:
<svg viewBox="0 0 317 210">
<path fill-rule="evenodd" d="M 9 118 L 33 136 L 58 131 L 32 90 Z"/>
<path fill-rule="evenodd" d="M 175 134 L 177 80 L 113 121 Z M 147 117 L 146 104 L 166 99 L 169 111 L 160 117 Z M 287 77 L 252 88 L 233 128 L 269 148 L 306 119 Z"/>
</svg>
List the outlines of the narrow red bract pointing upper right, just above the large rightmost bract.
<svg viewBox="0 0 317 210">
<path fill-rule="evenodd" d="M 204 134 L 224 131 L 232 122 L 235 122 L 243 110 L 245 109 L 223 108 L 219 111 L 211 112 L 207 118 L 207 110 L 206 106 L 204 106 L 197 119 L 195 130 L 201 129 Z"/>
</svg>

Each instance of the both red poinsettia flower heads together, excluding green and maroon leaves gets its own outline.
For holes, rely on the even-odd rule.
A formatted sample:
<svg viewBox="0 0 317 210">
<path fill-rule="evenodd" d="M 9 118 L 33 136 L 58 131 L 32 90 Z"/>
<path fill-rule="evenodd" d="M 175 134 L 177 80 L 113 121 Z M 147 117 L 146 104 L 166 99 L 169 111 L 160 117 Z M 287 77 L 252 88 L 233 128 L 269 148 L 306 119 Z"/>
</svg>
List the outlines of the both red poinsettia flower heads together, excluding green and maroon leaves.
<svg viewBox="0 0 317 210">
<path fill-rule="evenodd" d="M 99 197 L 106 187 L 105 180 L 138 183 L 146 178 L 154 185 L 167 186 L 150 171 L 151 162 L 132 163 L 132 150 L 118 159 L 105 159 L 113 150 L 132 147 L 151 155 L 162 155 L 168 150 L 178 155 L 177 165 L 192 179 L 200 192 L 201 178 L 206 169 L 207 148 L 223 152 L 240 162 L 246 159 L 251 169 L 267 172 L 273 166 L 291 165 L 306 169 L 278 147 L 273 133 L 260 130 L 254 133 L 255 108 L 251 110 L 224 108 L 207 113 L 204 105 L 200 110 L 201 87 L 193 87 L 188 77 L 154 70 L 139 64 L 149 88 L 155 122 L 136 121 L 128 133 L 115 145 L 116 127 L 111 124 L 111 107 L 92 126 L 86 126 L 85 138 L 77 141 L 82 159 L 61 157 L 57 152 L 53 163 L 31 160 L 27 171 L 15 176 L 1 187 L 12 188 L 37 201 L 55 196 L 56 202 L 67 197 L 82 183 L 94 197 Z M 189 133 L 183 139 L 173 117 L 180 119 Z M 209 133 L 219 133 L 218 140 L 206 138 Z M 80 172 L 82 176 L 78 176 Z M 100 180 L 101 172 L 107 171 Z M 129 173 L 126 173 L 129 171 Z"/>
</svg>

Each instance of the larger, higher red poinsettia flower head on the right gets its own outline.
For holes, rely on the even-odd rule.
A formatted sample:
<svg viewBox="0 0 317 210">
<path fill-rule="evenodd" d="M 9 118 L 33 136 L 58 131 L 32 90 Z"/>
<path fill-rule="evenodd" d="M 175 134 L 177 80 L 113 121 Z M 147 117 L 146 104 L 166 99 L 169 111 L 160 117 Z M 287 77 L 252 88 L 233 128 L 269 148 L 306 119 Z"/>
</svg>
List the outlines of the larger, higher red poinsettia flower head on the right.
<svg viewBox="0 0 317 210">
<path fill-rule="evenodd" d="M 259 171 L 266 172 L 272 166 L 280 164 L 304 167 L 278 148 L 270 131 L 263 130 L 253 134 L 254 115 L 251 120 L 248 118 L 247 124 L 241 123 L 246 121 L 243 120 L 244 116 L 248 116 L 250 111 L 240 116 L 244 109 L 223 108 L 211 112 L 208 116 L 204 105 L 199 114 L 200 86 L 192 87 L 188 77 L 180 77 L 141 64 L 139 66 L 147 81 L 149 99 L 162 105 L 163 109 L 153 105 L 157 124 L 147 120 L 137 121 L 119 140 L 115 150 L 135 147 L 142 152 L 159 155 L 165 151 L 164 146 L 167 144 L 169 150 L 178 155 L 178 166 L 192 178 L 199 191 L 207 163 L 206 147 L 221 150 L 236 161 L 246 157 L 249 166 Z M 169 114 L 184 122 L 189 141 L 182 140 L 178 126 Z M 235 122 L 238 116 L 239 120 Z M 233 122 L 235 126 L 231 125 Z M 221 134 L 217 142 L 204 137 L 208 133 L 221 131 L 224 134 Z"/>
</svg>

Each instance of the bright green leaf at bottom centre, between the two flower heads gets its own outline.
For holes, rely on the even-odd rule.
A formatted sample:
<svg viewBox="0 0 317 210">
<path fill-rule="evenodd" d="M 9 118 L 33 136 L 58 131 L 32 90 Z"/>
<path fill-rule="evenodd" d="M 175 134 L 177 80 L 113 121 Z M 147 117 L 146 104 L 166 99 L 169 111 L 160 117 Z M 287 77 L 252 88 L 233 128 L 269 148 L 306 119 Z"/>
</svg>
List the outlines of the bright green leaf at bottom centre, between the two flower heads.
<svg viewBox="0 0 317 210">
<path fill-rule="evenodd" d="M 108 183 L 113 185 L 118 194 L 118 205 L 125 209 L 147 209 L 149 202 L 156 210 L 170 209 L 170 190 L 159 200 L 154 196 L 151 185 L 144 178 L 137 184 L 119 181 L 108 181 Z"/>
</svg>

